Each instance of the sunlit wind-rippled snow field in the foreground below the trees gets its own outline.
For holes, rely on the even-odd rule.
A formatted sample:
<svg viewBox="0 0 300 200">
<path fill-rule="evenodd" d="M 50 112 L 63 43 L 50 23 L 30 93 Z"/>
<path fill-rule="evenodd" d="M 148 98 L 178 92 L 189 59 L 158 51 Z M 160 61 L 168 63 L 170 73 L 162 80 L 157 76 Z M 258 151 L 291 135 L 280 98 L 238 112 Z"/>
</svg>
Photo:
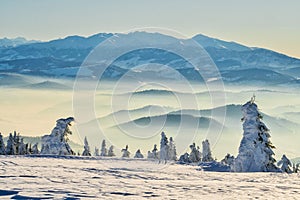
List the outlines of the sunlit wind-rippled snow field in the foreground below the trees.
<svg viewBox="0 0 300 200">
<path fill-rule="evenodd" d="M 300 199 L 300 175 L 139 159 L 0 157 L 0 199 Z"/>
</svg>

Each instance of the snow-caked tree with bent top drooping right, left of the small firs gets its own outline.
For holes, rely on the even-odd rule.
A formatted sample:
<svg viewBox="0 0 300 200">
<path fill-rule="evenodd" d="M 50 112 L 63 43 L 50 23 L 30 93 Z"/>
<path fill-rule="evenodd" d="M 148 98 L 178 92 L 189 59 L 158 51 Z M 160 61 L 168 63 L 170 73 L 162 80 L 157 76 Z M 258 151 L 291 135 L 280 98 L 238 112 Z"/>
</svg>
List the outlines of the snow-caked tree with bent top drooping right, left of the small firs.
<svg viewBox="0 0 300 200">
<path fill-rule="evenodd" d="M 59 119 L 56 121 L 56 126 L 50 135 L 42 137 L 41 154 L 53 155 L 73 155 L 74 151 L 68 144 L 68 135 L 71 135 L 71 123 L 74 121 L 73 117 L 66 119 Z"/>
</svg>

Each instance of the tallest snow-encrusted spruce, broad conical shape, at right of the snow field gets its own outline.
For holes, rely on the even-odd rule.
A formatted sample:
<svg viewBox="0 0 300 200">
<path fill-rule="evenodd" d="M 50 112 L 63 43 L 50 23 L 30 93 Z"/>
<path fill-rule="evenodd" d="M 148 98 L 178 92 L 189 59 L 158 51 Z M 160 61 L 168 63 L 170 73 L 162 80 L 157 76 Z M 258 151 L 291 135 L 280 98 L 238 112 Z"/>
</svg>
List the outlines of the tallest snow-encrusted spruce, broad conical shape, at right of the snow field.
<svg viewBox="0 0 300 200">
<path fill-rule="evenodd" d="M 254 103 L 255 96 L 242 106 L 243 138 L 234 161 L 234 172 L 277 172 L 273 158 L 275 148 L 270 141 L 269 129 L 261 122 L 262 116 Z"/>
</svg>

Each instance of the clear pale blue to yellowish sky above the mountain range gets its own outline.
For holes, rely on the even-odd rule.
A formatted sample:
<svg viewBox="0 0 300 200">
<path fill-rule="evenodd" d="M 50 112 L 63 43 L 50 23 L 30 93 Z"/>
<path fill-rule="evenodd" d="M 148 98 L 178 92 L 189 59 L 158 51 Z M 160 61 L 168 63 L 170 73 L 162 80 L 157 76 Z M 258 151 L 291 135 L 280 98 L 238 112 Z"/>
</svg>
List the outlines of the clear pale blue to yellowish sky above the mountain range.
<svg viewBox="0 0 300 200">
<path fill-rule="evenodd" d="M 0 0 L 0 38 L 50 40 L 148 26 L 300 58 L 298 0 Z"/>
</svg>

